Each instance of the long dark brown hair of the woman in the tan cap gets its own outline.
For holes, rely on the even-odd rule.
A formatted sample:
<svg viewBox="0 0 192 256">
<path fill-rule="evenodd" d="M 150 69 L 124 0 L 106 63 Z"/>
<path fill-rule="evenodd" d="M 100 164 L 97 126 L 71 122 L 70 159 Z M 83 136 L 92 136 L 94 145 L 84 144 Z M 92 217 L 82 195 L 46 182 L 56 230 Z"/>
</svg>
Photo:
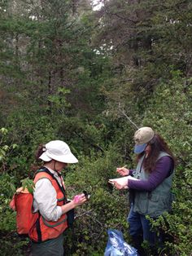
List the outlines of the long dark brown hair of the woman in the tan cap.
<svg viewBox="0 0 192 256">
<path fill-rule="evenodd" d="M 158 135 L 155 134 L 154 138 L 151 139 L 151 141 L 148 143 L 151 146 L 151 152 L 149 153 L 149 156 L 145 159 L 143 162 L 143 167 L 145 170 L 149 173 L 151 173 L 153 170 L 155 170 L 155 165 L 157 158 L 159 157 L 160 152 L 167 152 L 170 157 L 172 157 L 173 164 L 175 166 L 176 159 L 173 156 L 171 150 L 168 148 L 168 144 L 164 141 L 164 139 Z M 142 152 L 137 156 L 137 161 L 145 154 L 145 152 Z"/>
</svg>

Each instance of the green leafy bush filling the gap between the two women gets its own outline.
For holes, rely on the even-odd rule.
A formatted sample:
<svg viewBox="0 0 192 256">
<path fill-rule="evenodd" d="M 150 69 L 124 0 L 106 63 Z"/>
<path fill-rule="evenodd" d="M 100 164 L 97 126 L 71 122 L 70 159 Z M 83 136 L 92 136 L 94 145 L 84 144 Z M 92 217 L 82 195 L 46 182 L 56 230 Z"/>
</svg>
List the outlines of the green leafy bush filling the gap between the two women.
<svg viewBox="0 0 192 256">
<path fill-rule="evenodd" d="M 108 228 L 124 230 L 126 236 L 127 193 L 107 185 L 108 179 L 116 177 L 117 163 L 122 164 L 121 157 L 116 147 L 111 147 L 100 156 L 81 158 L 76 170 L 68 173 L 68 196 L 83 190 L 91 195 L 87 204 L 76 209 L 73 236 L 66 237 L 64 243 L 69 246 L 68 255 L 103 255 Z"/>
</svg>

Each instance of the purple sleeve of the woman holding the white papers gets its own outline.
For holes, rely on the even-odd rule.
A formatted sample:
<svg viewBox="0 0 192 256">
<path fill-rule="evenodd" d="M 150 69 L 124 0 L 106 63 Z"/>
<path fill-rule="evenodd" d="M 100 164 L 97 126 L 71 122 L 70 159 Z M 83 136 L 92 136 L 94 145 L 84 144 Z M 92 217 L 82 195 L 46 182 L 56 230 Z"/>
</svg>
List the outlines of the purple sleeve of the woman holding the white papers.
<svg viewBox="0 0 192 256">
<path fill-rule="evenodd" d="M 173 161 L 171 157 L 161 157 L 159 161 L 156 162 L 155 170 L 149 175 L 147 180 L 132 180 L 129 179 L 129 188 L 137 190 L 152 191 L 160 183 L 164 181 L 166 177 L 173 170 Z"/>
</svg>

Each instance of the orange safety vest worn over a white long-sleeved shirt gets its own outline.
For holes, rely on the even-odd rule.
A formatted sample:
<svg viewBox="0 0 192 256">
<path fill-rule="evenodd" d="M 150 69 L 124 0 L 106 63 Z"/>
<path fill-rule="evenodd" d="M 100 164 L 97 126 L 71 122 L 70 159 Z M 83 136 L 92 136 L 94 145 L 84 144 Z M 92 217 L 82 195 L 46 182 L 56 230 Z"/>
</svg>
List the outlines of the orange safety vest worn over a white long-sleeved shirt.
<svg viewBox="0 0 192 256">
<path fill-rule="evenodd" d="M 37 183 L 39 179 L 49 179 L 52 183 L 55 191 L 57 192 L 57 205 L 64 205 L 67 203 L 67 198 L 64 192 L 64 188 L 60 187 L 59 183 L 51 174 L 46 173 L 45 170 L 41 170 L 35 176 L 34 183 Z M 63 183 L 63 179 L 62 179 Z M 55 237 L 58 237 L 68 227 L 67 214 L 61 215 L 56 221 L 47 221 L 41 214 L 37 218 L 35 226 L 30 230 L 28 236 L 32 241 L 41 242 Z"/>
</svg>

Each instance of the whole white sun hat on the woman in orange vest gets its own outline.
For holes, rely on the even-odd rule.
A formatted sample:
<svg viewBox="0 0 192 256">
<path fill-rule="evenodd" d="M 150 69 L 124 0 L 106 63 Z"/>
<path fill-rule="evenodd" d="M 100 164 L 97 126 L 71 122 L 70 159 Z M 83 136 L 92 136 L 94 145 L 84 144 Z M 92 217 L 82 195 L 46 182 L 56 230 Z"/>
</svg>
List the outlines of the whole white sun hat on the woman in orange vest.
<svg viewBox="0 0 192 256">
<path fill-rule="evenodd" d="M 66 164 L 75 164 L 78 162 L 68 147 L 68 144 L 62 140 L 52 140 L 49 143 L 46 143 L 44 151 L 45 152 L 39 157 L 43 161 L 54 159 Z"/>
</svg>

